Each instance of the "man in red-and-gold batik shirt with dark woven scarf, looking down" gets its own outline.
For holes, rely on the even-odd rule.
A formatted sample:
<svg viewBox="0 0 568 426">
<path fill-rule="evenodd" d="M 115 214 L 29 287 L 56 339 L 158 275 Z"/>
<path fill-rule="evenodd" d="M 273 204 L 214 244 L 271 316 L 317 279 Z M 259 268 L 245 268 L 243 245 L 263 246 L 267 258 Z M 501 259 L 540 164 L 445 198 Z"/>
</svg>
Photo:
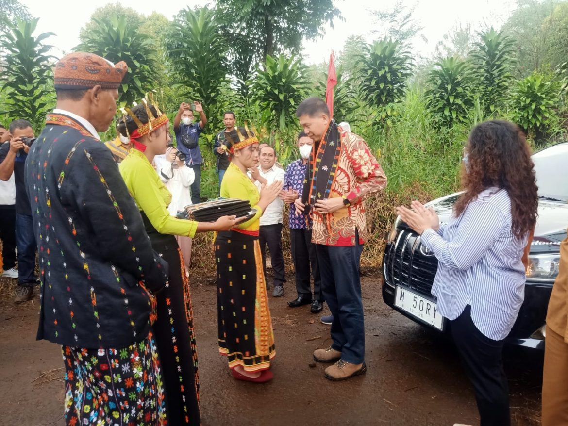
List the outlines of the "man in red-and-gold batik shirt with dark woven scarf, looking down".
<svg viewBox="0 0 568 426">
<path fill-rule="evenodd" d="M 365 141 L 330 120 L 319 98 L 296 111 L 300 126 L 314 141 L 298 212 L 312 218 L 312 243 L 325 302 L 333 315 L 333 344 L 314 352 L 319 362 L 335 362 L 325 377 L 343 380 L 365 373 L 365 324 L 359 262 L 367 239 L 365 198 L 385 188 L 387 178 Z"/>
</svg>

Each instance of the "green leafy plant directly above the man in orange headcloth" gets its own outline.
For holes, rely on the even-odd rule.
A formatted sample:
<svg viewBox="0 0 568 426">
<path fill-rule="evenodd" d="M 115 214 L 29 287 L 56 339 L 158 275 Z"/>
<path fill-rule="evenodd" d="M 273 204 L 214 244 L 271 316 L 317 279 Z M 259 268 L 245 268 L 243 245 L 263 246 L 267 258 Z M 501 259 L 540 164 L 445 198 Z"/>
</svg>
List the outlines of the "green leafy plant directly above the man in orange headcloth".
<svg viewBox="0 0 568 426">
<path fill-rule="evenodd" d="M 128 24 L 124 15 L 110 20 L 93 18 L 95 27 L 85 31 L 81 44 L 74 50 L 95 53 L 115 63 L 124 61 L 128 73 L 119 90 L 119 103 L 140 101 L 156 85 L 156 49 L 148 35 Z"/>
</svg>

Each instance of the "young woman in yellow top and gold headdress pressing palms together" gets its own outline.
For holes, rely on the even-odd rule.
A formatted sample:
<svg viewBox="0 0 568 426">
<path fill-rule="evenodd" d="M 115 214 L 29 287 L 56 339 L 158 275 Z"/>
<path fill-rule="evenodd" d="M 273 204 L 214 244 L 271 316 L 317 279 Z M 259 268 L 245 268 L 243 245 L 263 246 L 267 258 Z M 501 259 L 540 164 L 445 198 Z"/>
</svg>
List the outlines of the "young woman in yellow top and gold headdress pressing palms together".
<svg viewBox="0 0 568 426">
<path fill-rule="evenodd" d="M 253 218 L 215 239 L 218 272 L 219 352 L 226 355 L 233 377 L 262 383 L 272 379 L 274 333 L 262 272 L 258 225 L 266 206 L 282 189 L 275 181 L 258 193 L 247 176 L 258 161 L 258 140 L 245 128 L 225 133 L 231 164 L 221 183 L 221 196 L 240 198 L 256 209 Z"/>
</svg>

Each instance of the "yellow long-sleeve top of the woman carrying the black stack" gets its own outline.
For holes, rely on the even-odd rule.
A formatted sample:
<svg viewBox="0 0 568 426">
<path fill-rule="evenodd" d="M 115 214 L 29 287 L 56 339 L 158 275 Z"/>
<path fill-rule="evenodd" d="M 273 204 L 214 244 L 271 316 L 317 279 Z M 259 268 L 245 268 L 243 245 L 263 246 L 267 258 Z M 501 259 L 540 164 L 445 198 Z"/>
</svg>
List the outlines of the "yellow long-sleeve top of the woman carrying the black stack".
<svg viewBox="0 0 568 426">
<path fill-rule="evenodd" d="M 131 149 L 119 164 L 119 169 L 130 195 L 156 231 L 189 237 L 195 235 L 197 222 L 170 216 L 168 206 L 172 202 L 172 194 L 142 152 Z"/>
</svg>

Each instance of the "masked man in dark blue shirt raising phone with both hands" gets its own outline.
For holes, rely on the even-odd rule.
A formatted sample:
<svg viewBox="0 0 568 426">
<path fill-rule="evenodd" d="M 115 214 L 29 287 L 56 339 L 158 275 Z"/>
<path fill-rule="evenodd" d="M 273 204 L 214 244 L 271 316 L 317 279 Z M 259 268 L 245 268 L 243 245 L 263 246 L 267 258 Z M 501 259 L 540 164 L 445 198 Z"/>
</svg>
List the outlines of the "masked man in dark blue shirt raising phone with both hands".
<svg viewBox="0 0 568 426">
<path fill-rule="evenodd" d="M 194 123 L 195 112 L 199 112 L 199 122 Z M 186 154 L 185 163 L 193 169 L 195 181 L 191 185 L 191 202 L 199 203 L 199 185 L 201 185 L 201 164 L 203 156 L 199 150 L 199 135 L 207 124 L 207 117 L 203 112 L 201 102 L 186 103 L 179 105 L 179 110 L 174 119 L 174 133 L 176 133 L 177 147 Z"/>
</svg>

